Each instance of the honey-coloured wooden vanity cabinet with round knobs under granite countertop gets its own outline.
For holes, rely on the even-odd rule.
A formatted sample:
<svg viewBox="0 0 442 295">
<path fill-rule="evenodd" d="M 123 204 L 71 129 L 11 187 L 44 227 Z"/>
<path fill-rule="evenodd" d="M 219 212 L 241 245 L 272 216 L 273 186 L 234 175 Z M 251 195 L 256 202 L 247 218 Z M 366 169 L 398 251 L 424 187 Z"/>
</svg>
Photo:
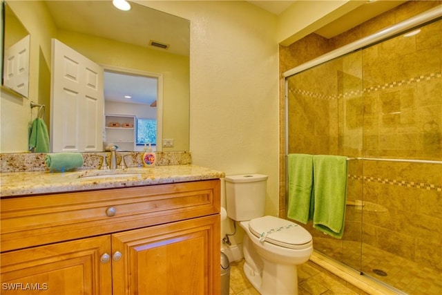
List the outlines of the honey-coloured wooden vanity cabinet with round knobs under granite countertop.
<svg viewBox="0 0 442 295">
<path fill-rule="evenodd" d="M 1 294 L 219 294 L 219 211 L 220 180 L 2 198 Z"/>
</svg>

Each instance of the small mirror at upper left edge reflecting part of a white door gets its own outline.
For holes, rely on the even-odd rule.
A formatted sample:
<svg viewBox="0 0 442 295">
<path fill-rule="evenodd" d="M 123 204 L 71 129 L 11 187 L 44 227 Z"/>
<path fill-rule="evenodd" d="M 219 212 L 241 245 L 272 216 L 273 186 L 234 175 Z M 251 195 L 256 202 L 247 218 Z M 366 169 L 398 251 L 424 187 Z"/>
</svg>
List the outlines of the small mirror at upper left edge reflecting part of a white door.
<svg viewBox="0 0 442 295">
<path fill-rule="evenodd" d="M 3 70 L 1 85 L 17 95 L 28 97 L 30 35 L 15 13 L 3 3 L 8 22 L 3 26 Z"/>
</svg>

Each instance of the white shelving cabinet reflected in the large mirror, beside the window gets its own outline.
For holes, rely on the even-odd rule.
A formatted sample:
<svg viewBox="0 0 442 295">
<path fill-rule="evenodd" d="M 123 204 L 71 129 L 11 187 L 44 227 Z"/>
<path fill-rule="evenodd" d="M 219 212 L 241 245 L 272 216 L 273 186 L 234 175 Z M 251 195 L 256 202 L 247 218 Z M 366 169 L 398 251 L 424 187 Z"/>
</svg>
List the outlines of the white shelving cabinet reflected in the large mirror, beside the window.
<svg viewBox="0 0 442 295">
<path fill-rule="evenodd" d="M 113 143 L 118 146 L 119 151 L 135 151 L 136 117 L 133 115 L 106 114 L 104 120 L 104 147 Z"/>
</svg>

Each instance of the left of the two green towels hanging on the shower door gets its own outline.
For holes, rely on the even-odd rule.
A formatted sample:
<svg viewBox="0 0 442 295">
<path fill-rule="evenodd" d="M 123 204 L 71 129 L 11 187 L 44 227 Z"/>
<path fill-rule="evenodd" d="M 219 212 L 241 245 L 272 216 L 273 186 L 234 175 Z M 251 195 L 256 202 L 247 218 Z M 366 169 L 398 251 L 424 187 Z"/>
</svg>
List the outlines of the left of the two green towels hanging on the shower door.
<svg viewBox="0 0 442 295">
<path fill-rule="evenodd" d="M 287 217 L 307 224 L 313 216 L 313 156 L 291 153 L 288 155 L 289 204 Z"/>
</svg>

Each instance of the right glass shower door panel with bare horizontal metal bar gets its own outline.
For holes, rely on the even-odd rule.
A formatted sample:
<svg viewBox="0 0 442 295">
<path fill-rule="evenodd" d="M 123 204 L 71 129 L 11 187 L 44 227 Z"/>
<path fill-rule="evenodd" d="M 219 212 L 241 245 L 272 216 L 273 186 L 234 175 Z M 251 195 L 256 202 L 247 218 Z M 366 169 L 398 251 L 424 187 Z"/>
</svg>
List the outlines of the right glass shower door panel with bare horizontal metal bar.
<svg viewBox="0 0 442 295">
<path fill-rule="evenodd" d="M 363 49 L 362 270 L 409 294 L 442 292 L 441 57 L 441 20 Z"/>
</svg>

